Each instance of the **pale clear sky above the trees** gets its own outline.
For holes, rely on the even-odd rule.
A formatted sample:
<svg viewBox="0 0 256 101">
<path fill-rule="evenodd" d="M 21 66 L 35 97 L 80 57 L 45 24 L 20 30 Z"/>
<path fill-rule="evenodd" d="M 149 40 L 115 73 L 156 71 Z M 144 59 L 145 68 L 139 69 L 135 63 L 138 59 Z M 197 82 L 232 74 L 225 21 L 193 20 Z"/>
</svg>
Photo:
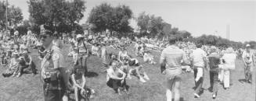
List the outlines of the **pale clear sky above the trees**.
<svg viewBox="0 0 256 101">
<path fill-rule="evenodd" d="M 3 1 L 3 0 L 1 0 Z M 230 26 L 230 40 L 256 41 L 256 0 L 85 0 L 87 7 L 85 23 L 89 12 L 96 5 L 107 2 L 110 5 L 128 5 L 133 16 L 146 12 L 161 16 L 172 27 L 186 30 L 193 37 L 213 34 L 226 38 L 226 26 Z M 11 5 L 22 9 L 24 19 L 28 19 L 27 0 L 9 0 Z M 135 20 L 131 26 L 136 28 Z"/>
</svg>

